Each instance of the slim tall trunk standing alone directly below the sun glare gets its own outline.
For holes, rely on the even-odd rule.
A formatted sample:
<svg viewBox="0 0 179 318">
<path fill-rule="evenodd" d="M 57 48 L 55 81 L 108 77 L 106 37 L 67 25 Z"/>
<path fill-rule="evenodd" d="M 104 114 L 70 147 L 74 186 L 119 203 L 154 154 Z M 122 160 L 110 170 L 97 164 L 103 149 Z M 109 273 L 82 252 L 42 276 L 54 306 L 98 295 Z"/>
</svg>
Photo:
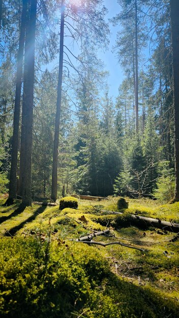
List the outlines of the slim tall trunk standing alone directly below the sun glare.
<svg viewBox="0 0 179 318">
<path fill-rule="evenodd" d="M 56 102 L 56 116 L 55 116 L 55 134 L 53 146 L 53 167 L 52 167 L 52 187 L 51 199 L 56 201 L 57 198 L 57 157 L 58 157 L 58 142 L 59 142 L 59 120 L 61 117 L 61 100 L 62 100 L 62 75 L 63 75 L 63 55 L 64 55 L 64 17 L 65 5 L 62 0 L 61 7 L 61 36 L 59 46 L 59 69 L 58 69 L 58 88 L 57 88 L 57 102 Z"/>
</svg>

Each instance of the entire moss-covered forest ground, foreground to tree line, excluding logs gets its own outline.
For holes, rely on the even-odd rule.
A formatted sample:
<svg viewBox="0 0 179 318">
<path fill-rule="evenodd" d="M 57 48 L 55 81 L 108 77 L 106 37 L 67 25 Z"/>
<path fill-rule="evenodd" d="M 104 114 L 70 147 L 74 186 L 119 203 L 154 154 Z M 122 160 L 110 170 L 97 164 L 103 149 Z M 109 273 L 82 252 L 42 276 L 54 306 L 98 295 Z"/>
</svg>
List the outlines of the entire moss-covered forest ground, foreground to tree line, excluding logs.
<svg viewBox="0 0 179 318">
<path fill-rule="evenodd" d="M 18 201 L 1 207 L 2 317 L 27 317 L 29 312 L 64 318 L 177 317 L 178 233 L 137 228 L 130 214 L 179 223 L 179 203 L 126 199 L 129 207 L 123 210 L 112 197 L 78 200 L 77 209 L 62 211 L 59 205 L 33 204 L 20 212 Z M 109 233 L 93 242 L 121 242 L 140 250 L 72 242 L 106 229 Z"/>
</svg>

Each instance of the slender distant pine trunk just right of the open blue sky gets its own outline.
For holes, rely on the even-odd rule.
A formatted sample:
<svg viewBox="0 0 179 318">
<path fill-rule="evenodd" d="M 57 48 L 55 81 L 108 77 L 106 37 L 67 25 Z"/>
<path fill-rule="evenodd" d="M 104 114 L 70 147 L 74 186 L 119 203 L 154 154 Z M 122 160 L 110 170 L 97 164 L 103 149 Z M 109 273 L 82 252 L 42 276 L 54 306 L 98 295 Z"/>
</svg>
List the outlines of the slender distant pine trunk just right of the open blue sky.
<svg viewBox="0 0 179 318">
<path fill-rule="evenodd" d="M 138 27 L 137 27 L 137 0 L 135 0 L 135 121 L 136 134 L 139 130 L 139 101 L 138 101 Z"/>
</svg>

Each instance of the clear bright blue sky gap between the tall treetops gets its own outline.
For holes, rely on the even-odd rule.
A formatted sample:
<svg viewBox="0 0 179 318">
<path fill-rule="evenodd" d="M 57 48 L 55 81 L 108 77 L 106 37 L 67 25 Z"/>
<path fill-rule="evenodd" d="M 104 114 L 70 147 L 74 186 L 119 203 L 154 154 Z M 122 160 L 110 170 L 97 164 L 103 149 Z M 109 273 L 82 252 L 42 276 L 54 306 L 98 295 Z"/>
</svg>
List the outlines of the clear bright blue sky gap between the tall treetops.
<svg viewBox="0 0 179 318">
<path fill-rule="evenodd" d="M 106 19 L 112 18 L 113 16 L 115 16 L 116 13 L 120 11 L 120 5 L 117 3 L 117 0 L 104 0 L 104 5 L 108 9 L 108 15 Z M 105 53 L 99 52 L 98 56 L 99 58 L 101 58 L 102 61 L 104 61 L 105 69 L 109 71 L 109 93 L 111 96 L 113 96 L 113 100 L 115 100 L 118 95 L 118 87 L 123 80 L 123 72 L 119 63 L 117 62 L 115 54 L 111 52 L 112 46 L 115 45 L 116 34 L 119 26 L 113 27 L 111 23 L 109 26 L 111 31 L 111 35 L 109 37 L 109 48 Z"/>
</svg>

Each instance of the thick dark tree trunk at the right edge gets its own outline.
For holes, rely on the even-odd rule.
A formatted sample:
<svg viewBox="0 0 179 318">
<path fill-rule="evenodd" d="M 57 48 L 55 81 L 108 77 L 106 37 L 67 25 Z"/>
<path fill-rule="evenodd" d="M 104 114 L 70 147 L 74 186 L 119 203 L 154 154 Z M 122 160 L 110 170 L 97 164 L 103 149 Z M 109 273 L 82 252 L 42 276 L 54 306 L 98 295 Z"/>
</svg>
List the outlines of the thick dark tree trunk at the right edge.
<svg viewBox="0 0 179 318">
<path fill-rule="evenodd" d="M 175 196 L 179 201 L 179 1 L 170 0 L 173 96 L 174 96 L 174 160 L 175 160 Z"/>
</svg>

